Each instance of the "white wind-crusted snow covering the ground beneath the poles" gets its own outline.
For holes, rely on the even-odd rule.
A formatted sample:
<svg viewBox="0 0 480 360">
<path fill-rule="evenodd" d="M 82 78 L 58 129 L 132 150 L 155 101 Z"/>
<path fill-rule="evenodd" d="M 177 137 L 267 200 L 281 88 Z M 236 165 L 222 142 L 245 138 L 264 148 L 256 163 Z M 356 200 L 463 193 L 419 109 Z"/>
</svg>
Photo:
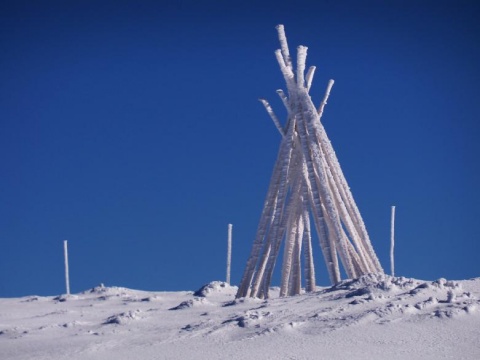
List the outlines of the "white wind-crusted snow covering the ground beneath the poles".
<svg viewBox="0 0 480 360">
<path fill-rule="evenodd" d="M 365 275 L 268 300 L 236 291 L 0 299 L 0 359 L 480 359 L 480 278 Z"/>
</svg>

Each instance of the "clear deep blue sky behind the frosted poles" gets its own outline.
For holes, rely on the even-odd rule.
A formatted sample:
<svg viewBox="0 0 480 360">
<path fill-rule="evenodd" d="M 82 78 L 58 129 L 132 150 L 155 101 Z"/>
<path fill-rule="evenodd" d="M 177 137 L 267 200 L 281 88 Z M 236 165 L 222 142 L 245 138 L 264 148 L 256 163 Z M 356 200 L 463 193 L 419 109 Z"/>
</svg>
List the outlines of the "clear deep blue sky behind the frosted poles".
<svg viewBox="0 0 480 360">
<path fill-rule="evenodd" d="M 361 3 L 361 4 L 360 4 Z M 309 47 L 323 123 L 389 269 L 480 276 L 480 17 L 465 1 L 0 4 L 0 297 L 232 282 L 285 119 L 275 25 Z M 315 244 L 317 281 L 327 285 Z"/>
</svg>

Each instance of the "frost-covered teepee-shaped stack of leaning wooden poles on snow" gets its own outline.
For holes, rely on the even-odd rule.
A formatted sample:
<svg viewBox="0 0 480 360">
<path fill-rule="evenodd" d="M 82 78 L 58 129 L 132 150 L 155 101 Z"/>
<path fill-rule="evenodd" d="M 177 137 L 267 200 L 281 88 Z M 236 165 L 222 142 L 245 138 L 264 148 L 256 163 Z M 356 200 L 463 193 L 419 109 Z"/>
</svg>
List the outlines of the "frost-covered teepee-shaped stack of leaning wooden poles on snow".
<svg viewBox="0 0 480 360">
<path fill-rule="evenodd" d="M 282 140 L 257 235 L 237 298 L 268 297 L 273 269 L 285 240 L 280 295 L 315 289 L 310 219 L 313 219 L 330 281 L 340 281 L 340 259 L 349 278 L 383 272 L 360 212 L 320 122 L 333 80 L 317 108 L 309 95 L 315 67 L 305 75 L 307 47 L 297 48 L 294 72 L 283 25 L 277 26 L 281 49 L 275 52 L 288 96 L 277 90 L 288 113 L 283 127 L 266 100 L 265 106 Z M 303 254 L 303 261 L 302 261 Z"/>
</svg>

